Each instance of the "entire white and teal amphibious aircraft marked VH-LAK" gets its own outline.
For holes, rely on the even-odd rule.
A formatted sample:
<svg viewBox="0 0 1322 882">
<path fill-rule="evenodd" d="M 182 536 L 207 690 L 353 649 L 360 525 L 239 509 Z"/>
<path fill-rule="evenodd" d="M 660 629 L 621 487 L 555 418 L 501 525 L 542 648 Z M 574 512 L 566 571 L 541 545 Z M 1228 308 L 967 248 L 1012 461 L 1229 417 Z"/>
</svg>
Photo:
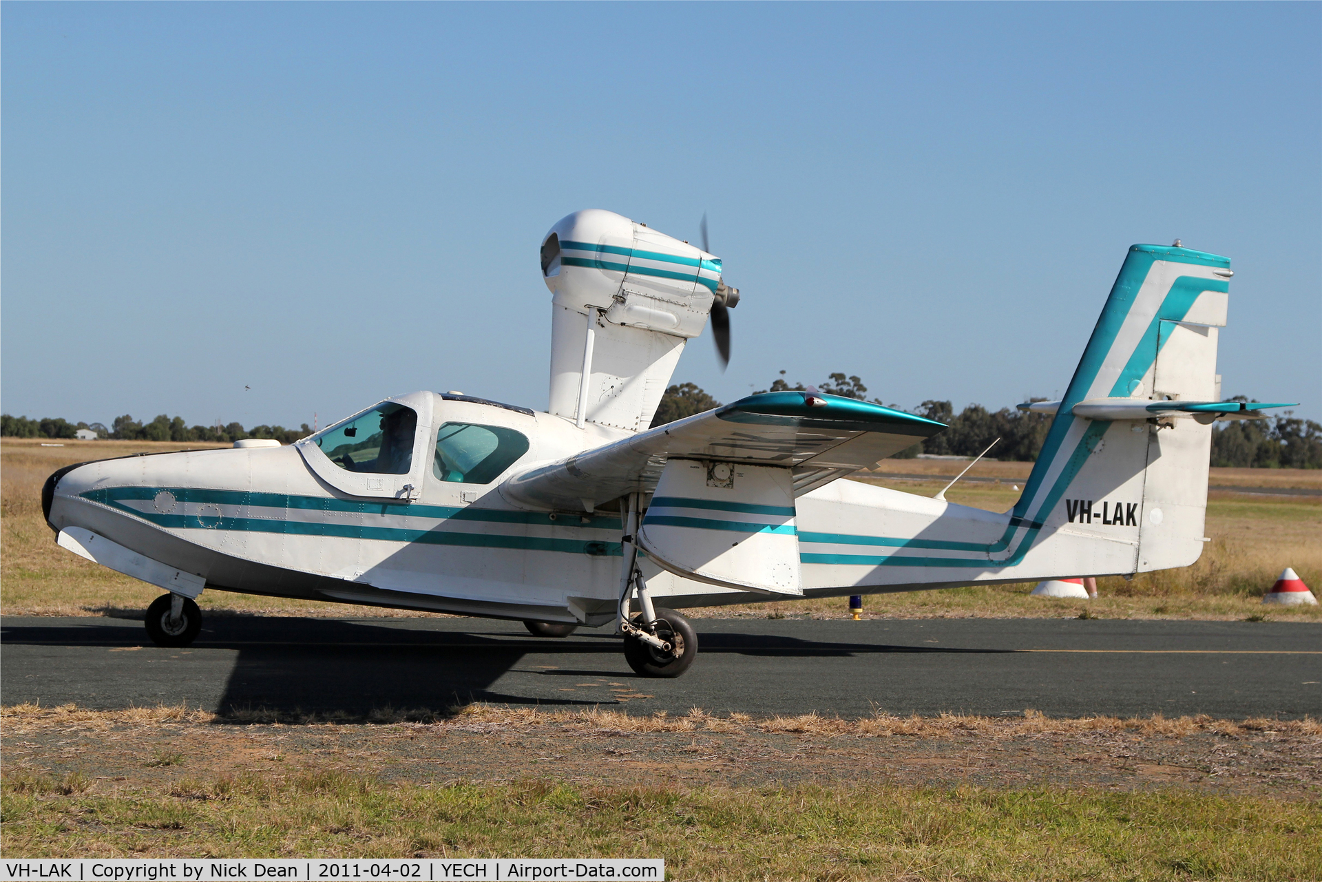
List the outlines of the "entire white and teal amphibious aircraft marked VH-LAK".
<svg viewBox="0 0 1322 882">
<path fill-rule="evenodd" d="M 62 468 L 58 543 L 165 588 L 163 645 L 194 598 L 241 591 L 516 619 L 541 636 L 613 623 L 628 664 L 674 677 L 698 640 L 676 610 L 1130 575 L 1203 543 L 1229 261 L 1129 249 L 1023 493 L 994 513 L 849 480 L 944 426 L 808 391 L 649 428 L 685 342 L 739 300 L 719 258 L 604 210 L 545 237 L 545 411 L 457 391 L 387 398 L 291 446 Z M 1067 292 L 1067 296 L 1087 296 Z"/>
</svg>

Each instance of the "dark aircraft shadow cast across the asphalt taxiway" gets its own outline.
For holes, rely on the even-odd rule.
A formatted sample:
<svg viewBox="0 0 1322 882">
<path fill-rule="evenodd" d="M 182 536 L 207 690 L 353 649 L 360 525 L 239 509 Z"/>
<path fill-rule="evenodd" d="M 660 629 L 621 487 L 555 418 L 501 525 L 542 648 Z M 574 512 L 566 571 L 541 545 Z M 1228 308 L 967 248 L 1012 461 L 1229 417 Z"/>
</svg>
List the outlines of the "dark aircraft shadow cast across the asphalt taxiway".
<svg viewBox="0 0 1322 882">
<path fill-rule="evenodd" d="M 104 623 L 104 624 L 102 624 Z M 137 623 L 97 625 L 5 625 L 5 644 L 151 645 Z M 476 624 L 476 623 L 475 623 Z M 763 657 L 847 657 L 874 653 L 1001 653 L 1003 649 L 906 647 L 832 643 L 787 636 L 730 632 L 699 633 L 702 653 Z M 608 631 L 568 639 L 521 637 L 492 632 L 436 631 L 336 619 L 209 616 L 192 649 L 237 652 L 215 711 L 263 710 L 280 715 L 344 713 L 370 715 L 381 709 L 449 713 L 471 702 L 502 705 L 596 706 L 602 701 L 557 698 L 555 686 L 496 684 L 506 673 L 546 677 L 639 680 L 624 662 L 619 639 Z M 527 655 L 545 666 L 521 668 Z M 136 655 L 136 653 L 135 653 Z M 564 664 L 554 664 L 563 659 Z M 128 660 L 126 660 L 128 661 Z M 713 660 L 715 661 L 715 660 Z M 701 660 L 699 660 L 701 664 Z M 695 670 L 687 676 L 701 674 Z M 524 694 L 517 694 L 524 693 Z"/>
</svg>

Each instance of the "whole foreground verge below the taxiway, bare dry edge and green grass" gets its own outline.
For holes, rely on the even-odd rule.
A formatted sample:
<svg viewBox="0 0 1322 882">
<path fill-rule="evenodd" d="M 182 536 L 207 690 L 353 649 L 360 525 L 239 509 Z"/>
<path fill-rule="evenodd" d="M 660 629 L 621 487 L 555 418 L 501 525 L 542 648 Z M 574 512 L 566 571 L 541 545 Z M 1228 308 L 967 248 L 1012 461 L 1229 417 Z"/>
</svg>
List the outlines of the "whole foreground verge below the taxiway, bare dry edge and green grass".
<svg viewBox="0 0 1322 882">
<path fill-rule="evenodd" d="M 476 705 L 353 725 L 19 705 L 0 723 L 5 854 L 648 856 L 672 879 L 1322 873 L 1313 719 Z"/>
</svg>

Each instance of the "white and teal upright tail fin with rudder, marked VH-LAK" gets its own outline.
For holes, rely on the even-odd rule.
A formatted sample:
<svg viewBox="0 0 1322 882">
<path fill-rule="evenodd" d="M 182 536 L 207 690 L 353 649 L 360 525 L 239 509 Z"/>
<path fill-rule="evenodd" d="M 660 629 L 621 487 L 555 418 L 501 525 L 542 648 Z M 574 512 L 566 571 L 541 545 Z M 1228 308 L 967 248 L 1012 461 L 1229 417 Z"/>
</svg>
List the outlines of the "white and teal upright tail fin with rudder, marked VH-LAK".
<svg viewBox="0 0 1322 882">
<path fill-rule="evenodd" d="M 1211 426 L 1089 419 L 1073 409 L 1096 399 L 1212 398 L 1229 276 L 1229 259 L 1215 254 L 1129 249 L 1015 504 L 1022 524 L 1130 543 L 1136 571 L 1198 559 Z"/>
</svg>

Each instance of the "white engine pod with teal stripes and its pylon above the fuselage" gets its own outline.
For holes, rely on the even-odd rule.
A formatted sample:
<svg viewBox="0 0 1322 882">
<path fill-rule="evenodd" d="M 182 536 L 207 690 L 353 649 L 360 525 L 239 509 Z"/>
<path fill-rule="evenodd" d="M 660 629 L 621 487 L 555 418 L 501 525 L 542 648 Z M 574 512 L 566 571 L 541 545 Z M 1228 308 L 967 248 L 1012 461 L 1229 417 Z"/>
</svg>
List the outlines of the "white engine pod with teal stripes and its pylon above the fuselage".
<svg viewBox="0 0 1322 882">
<path fill-rule="evenodd" d="M 541 263 L 554 295 L 549 411 L 646 428 L 685 341 L 702 333 L 713 301 L 734 291 L 722 284 L 720 261 L 613 212 L 590 209 L 551 227 Z"/>
</svg>

